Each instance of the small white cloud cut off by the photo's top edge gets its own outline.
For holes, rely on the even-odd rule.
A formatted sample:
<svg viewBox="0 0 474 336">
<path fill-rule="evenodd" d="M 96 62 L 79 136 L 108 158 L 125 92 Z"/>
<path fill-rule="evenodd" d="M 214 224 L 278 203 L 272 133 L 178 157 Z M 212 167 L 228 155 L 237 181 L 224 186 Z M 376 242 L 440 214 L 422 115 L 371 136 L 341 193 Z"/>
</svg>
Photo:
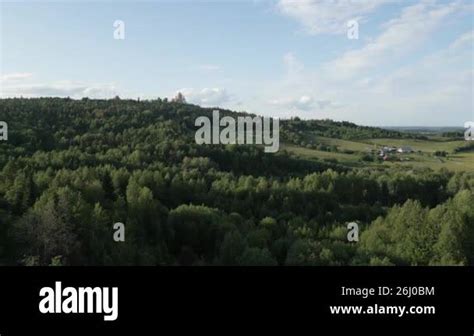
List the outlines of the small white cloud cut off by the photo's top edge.
<svg viewBox="0 0 474 336">
<path fill-rule="evenodd" d="M 387 0 L 280 0 L 278 10 L 299 21 L 310 34 L 341 34 Z"/>
</svg>

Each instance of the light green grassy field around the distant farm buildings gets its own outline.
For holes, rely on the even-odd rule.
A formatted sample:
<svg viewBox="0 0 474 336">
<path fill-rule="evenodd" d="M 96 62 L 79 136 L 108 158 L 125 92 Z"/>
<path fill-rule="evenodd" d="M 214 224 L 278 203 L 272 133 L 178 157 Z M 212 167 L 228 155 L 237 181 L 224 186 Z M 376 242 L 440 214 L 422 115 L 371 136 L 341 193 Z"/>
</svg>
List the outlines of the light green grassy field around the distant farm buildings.
<svg viewBox="0 0 474 336">
<path fill-rule="evenodd" d="M 465 144 L 464 141 L 460 140 L 365 139 L 349 141 L 324 137 L 319 137 L 317 140 L 318 143 L 327 146 L 336 146 L 338 152 L 326 152 L 289 144 L 282 144 L 282 149 L 286 149 L 306 159 L 337 160 L 341 164 L 352 167 L 401 166 L 406 168 L 428 167 L 433 170 L 445 168 L 451 171 L 474 171 L 474 153 L 453 154 L 455 148 Z M 371 150 L 376 150 L 377 148 L 380 149 L 383 146 L 410 146 L 414 152 L 410 154 L 394 154 L 392 161 L 383 162 L 375 160 L 374 162 L 366 162 L 361 160 L 364 154 L 370 153 Z M 344 151 L 353 151 L 354 153 L 347 154 Z M 436 151 L 445 151 L 448 153 L 448 156 L 436 157 L 433 155 Z"/>
</svg>

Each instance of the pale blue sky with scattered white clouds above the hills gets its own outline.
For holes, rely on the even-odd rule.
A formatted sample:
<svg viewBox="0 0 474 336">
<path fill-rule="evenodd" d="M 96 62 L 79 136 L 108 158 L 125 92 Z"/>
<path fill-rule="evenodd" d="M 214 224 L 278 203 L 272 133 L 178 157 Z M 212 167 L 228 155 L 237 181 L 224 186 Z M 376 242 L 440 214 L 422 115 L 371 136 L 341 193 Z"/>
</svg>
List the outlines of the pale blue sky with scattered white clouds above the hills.
<svg viewBox="0 0 474 336">
<path fill-rule="evenodd" d="M 473 3 L 1 2 L 1 96 L 188 101 L 277 117 L 462 126 Z M 114 39 L 113 23 L 125 38 Z M 349 39 L 347 22 L 359 24 Z"/>
</svg>

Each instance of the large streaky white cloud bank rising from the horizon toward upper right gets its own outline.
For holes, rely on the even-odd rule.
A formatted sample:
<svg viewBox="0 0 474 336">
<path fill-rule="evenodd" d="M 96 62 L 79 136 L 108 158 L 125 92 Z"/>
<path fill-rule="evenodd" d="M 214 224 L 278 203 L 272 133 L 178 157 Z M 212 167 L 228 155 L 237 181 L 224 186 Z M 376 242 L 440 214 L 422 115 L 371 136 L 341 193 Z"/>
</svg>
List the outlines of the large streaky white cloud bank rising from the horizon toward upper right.
<svg viewBox="0 0 474 336">
<path fill-rule="evenodd" d="M 424 42 L 465 9 L 458 1 L 410 4 L 372 41 L 316 67 L 288 53 L 284 75 L 266 83 L 256 110 L 366 125 L 462 125 L 474 110 L 474 33 L 439 39 L 434 51 Z"/>
</svg>

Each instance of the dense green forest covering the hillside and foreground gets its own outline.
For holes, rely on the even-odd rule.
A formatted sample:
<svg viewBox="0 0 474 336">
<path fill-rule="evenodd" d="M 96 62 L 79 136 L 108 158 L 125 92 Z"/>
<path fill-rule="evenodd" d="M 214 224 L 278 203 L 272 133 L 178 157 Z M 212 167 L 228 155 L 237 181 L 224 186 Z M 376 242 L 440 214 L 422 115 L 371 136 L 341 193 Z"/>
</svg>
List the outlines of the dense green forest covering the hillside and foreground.
<svg viewBox="0 0 474 336">
<path fill-rule="evenodd" d="M 196 145 L 203 115 L 212 109 L 166 99 L 0 100 L 0 263 L 474 265 L 474 172 Z M 330 120 L 280 127 L 298 146 L 309 133 L 417 137 Z M 116 222 L 125 242 L 112 239 Z"/>
</svg>

